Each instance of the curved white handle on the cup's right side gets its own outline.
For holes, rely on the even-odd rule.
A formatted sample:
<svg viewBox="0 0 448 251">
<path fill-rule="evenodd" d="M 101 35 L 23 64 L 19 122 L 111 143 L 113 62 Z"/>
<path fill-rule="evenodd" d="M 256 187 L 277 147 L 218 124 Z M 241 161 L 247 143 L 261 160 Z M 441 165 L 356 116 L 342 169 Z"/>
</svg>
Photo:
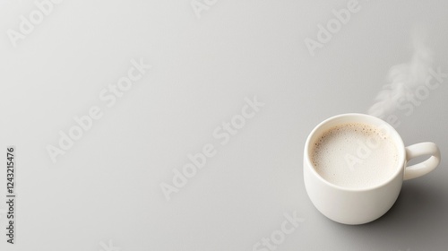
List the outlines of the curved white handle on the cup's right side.
<svg viewBox="0 0 448 251">
<path fill-rule="evenodd" d="M 406 149 L 406 161 L 414 159 L 418 156 L 431 155 L 429 159 L 418 164 L 406 167 L 404 169 L 404 180 L 412 179 L 426 175 L 426 173 L 434 170 L 440 163 L 440 150 L 432 142 L 416 143 L 409 145 Z"/>
</svg>

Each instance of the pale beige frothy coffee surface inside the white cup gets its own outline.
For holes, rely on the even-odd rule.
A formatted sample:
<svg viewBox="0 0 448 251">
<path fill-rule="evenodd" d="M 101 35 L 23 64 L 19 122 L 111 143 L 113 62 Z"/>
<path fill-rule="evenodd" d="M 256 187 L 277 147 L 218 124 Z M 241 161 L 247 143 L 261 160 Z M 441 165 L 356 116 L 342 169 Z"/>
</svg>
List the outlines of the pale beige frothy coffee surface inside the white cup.
<svg viewBox="0 0 448 251">
<path fill-rule="evenodd" d="M 372 125 L 337 125 L 314 142 L 314 169 L 337 186 L 368 188 L 390 179 L 398 165 L 398 148 L 391 137 Z"/>
</svg>

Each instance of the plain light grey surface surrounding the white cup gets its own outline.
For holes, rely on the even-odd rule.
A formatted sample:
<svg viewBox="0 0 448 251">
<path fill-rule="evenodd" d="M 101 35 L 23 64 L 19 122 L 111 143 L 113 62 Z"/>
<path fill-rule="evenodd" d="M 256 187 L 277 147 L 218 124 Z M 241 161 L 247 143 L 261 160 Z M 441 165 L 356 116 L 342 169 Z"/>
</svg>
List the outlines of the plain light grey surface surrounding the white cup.
<svg viewBox="0 0 448 251">
<path fill-rule="evenodd" d="M 0 143 L 17 146 L 18 202 L 16 245 L 2 234 L 1 250 L 265 251 L 257 243 L 294 212 L 303 222 L 275 250 L 448 250 L 448 79 L 409 116 L 396 111 L 405 144 L 435 142 L 443 160 L 379 220 L 326 219 L 302 175 L 314 125 L 366 113 L 392 65 L 409 62 L 413 27 L 448 73 L 446 1 L 360 0 L 314 56 L 305 39 L 349 1 L 197 2 L 199 17 L 189 0 L 63 1 L 13 47 L 7 30 L 39 8 L 2 0 Z M 99 93 L 140 58 L 151 70 L 108 108 Z M 213 131 L 254 96 L 264 107 L 220 144 Z M 53 163 L 47 146 L 94 106 L 103 117 Z M 167 201 L 160 184 L 207 143 L 216 155 Z"/>
</svg>

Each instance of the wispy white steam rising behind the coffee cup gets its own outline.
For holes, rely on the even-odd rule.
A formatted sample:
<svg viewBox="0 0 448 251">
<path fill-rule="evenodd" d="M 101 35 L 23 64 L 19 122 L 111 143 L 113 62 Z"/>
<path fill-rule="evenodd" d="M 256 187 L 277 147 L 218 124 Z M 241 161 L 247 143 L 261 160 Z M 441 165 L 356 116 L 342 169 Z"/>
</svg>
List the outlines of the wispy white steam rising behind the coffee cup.
<svg viewBox="0 0 448 251">
<path fill-rule="evenodd" d="M 368 114 L 384 117 L 397 108 L 398 100 L 408 99 L 418 85 L 425 83 L 433 56 L 424 42 L 424 32 L 414 30 L 412 45 L 413 55 L 410 62 L 393 65 L 388 73 L 387 84 L 375 97 L 375 104 L 368 109 Z"/>
</svg>

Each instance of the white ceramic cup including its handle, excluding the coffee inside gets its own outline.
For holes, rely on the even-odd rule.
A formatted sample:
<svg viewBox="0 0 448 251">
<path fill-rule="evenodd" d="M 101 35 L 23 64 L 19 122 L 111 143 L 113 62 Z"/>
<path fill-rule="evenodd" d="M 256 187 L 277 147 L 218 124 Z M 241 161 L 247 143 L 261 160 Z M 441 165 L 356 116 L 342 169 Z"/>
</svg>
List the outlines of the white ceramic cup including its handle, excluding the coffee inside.
<svg viewBox="0 0 448 251">
<path fill-rule="evenodd" d="M 378 126 L 388 134 L 398 149 L 398 164 L 393 175 L 378 186 L 368 188 L 344 187 L 332 184 L 319 175 L 311 161 L 313 145 L 323 132 L 335 125 L 363 123 Z M 418 156 L 429 159 L 407 166 L 407 161 Z M 326 217 L 344 224 L 362 224 L 381 217 L 395 203 L 403 180 L 420 177 L 432 171 L 440 162 L 440 151 L 435 143 L 416 143 L 405 147 L 392 125 L 365 114 L 343 114 L 330 117 L 317 125 L 306 139 L 304 151 L 304 180 L 306 193 L 314 206 Z"/>
</svg>

